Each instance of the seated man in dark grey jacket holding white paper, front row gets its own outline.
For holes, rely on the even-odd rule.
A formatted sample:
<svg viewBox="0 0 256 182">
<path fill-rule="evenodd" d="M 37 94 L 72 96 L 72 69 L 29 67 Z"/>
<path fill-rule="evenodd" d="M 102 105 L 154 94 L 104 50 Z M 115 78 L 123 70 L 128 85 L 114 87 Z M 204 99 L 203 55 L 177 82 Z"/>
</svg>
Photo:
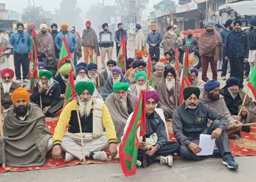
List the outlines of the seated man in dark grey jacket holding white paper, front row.
<svg viewBox="0 0 256 182">
<path fill-rule="evenodd" d="M 199 146 L 200 134 L 208 134 L 212 139 L 216 138 L 215 144 L 223 157 L 222 163 L 230 169 L 238 169 L 237 162 L 231 156 L 228 135 L 225 132 L 227 118 L 199 101 L 198 87 L 185 88 L 183 95 L 185 103 L 173 112 L 173 133 L 180 144 L 179 153 L 182 159 L 196 161 L 207 158 L 208 156 L 196 154 L 202 151 Z M 213 120 L 210 127 L 207 127 L 208 119 Z"/>
</svg>

